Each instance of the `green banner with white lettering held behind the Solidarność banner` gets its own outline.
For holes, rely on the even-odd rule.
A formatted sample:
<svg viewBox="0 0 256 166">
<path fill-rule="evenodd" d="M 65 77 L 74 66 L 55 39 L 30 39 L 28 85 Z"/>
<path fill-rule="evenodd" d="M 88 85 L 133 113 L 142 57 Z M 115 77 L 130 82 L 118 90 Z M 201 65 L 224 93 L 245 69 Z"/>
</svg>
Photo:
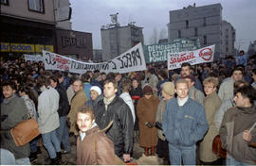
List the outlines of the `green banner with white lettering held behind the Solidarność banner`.
<svg viewBox="0 0 256 166">
<path fill-rule="evenodd" d="M 192 51 L 200 48 L 199 39 L 190 40 L 186 38 L 175 39 L 173 42 L 144 45 L 144 56 L 146 63 L 166 61 L 170 53 Z"/>
</svg>

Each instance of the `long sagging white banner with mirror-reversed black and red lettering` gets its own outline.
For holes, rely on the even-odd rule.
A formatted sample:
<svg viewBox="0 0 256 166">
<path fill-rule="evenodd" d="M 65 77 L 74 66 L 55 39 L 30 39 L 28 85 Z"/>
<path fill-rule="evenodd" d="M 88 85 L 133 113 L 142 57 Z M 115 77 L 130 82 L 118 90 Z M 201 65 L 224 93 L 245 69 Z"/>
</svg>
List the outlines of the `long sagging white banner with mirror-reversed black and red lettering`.
<svg viewBox="0 0 256 166">
<path fill-rule="evenodd" d="M 69 71 L 76 74 L 84 74 L 86 71 L 94 70 L 120 74 L 146 70 L 141 43 L 138 43 L 119 57 L 101 63 L 86 63 L 48 51 L 43 51 L 43 56 L 46 70 Z"/>
</svg>

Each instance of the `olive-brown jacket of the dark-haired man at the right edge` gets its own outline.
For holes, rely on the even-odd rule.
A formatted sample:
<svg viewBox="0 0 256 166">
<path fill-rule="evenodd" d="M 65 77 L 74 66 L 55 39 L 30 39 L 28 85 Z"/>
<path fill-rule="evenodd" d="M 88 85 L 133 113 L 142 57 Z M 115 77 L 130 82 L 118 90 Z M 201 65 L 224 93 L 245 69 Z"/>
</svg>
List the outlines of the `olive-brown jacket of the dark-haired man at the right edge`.
<svg viewBox="0 0 256 166">
<path fill-rule="evenodd" d="M 222 147 L 232 158 L 247 164 L 255 164 L 256 148 L 243 139 L 243 132 L 256 122 L 256 108 L 229 108 L 220 127 Z M 250 132 L 251 142 L 256 142 L 256 127 Z"/>
</svg>

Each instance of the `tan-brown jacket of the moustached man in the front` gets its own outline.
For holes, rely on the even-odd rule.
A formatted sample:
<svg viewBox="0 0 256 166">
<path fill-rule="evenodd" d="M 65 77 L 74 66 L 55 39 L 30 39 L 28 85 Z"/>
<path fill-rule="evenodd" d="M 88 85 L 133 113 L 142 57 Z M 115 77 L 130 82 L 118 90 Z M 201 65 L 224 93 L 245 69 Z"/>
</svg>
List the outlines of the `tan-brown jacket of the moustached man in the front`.
<svg viewBox="0 0 256 166">
<path fill-rule="evenodd" d="M 85 132 L 85 138 L 77 139 L 77 165 L 119 165 L 115 157 L 114 143 L 105 130 L 96 125 Z"/>
</svg>

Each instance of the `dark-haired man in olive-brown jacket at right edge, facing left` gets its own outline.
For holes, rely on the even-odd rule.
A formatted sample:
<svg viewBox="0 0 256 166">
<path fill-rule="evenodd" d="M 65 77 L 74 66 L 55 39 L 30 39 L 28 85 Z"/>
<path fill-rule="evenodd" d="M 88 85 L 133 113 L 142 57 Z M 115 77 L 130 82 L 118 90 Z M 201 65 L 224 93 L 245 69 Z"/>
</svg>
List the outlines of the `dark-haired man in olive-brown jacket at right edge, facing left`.
<svg viewBox="0 0 256 166">
<path fill-rule="evenodd" d="M 227 165 L 255 164 L 256 91 L 251 86 L 238 89 L 234 102 L 236 107 L 229 108 L 220 126 L 222 147 L 228 151 Z"/>
</svg>

